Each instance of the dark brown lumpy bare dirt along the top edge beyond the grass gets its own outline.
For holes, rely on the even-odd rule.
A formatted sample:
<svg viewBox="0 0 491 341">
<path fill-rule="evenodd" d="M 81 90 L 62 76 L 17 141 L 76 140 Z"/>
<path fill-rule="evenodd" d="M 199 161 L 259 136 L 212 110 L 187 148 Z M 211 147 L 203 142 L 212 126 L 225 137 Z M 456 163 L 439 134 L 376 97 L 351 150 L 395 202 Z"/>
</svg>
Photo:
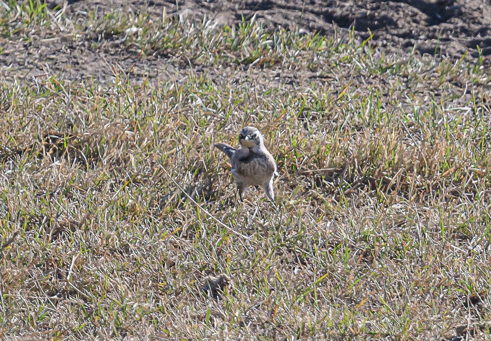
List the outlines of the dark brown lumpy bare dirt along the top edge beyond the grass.
<svg viewBox="0 0 491 341">
<path fill-rule="evenodd" d="M 125 7 L 127 1 L 111 1 Z M 109 9 L 107 1 L 77 1 L 74 10 L 98 6 Z M 374 41 L 392 51 L 408 51 L 416 46 L 421 54 L 460 58 L 465 51 L 477 57 L 491 55 L 491 0 L 134 0 L 137 10 L 148 8 L 167 14 L 236 24 L 256 15 L 271 28 L 278 26 L 331 35 L 354 28 L 363 39 L 374 34 Z"/>
</svg>

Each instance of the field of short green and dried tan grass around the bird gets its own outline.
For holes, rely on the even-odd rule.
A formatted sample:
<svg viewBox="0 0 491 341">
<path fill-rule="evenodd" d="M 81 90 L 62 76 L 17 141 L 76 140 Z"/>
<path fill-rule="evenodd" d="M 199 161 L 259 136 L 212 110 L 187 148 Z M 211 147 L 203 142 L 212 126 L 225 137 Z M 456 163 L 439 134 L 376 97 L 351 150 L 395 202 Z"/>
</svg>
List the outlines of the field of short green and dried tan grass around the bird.
<svg viewBox="0 0 491 341">
<path fill-rule="evenodd" d="M 2 338 L 491 339 L 483 58 L 0 7 L 3 43 L 62 31 L 137 60 L 77 80 L 2 66 Z M 275 205 L 236 202 L 213 148 L 245 125 L 276 158 Z"/>
</svg>

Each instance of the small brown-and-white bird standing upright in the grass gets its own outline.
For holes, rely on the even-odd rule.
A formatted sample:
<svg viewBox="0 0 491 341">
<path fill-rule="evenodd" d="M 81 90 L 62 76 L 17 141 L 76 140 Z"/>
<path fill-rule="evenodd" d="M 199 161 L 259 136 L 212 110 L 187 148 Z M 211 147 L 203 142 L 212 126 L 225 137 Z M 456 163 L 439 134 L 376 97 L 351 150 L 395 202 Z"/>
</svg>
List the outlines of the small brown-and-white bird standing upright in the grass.
<svg viewBox="0 0 491 341">
<path fill-rule="evenodd" d="M 232 164 L 232 175 L 237 184 L 239 197 L 249 186 L 261 186 L 269 199 L 274 200 L 273 176 L 276 163 L 273 155 L 264 146 L 263 136 L 254 127 L 245 127 L 239 133 L 241 147 L 236 149 L 227 143 L 215 143 Z"/>
</svg>

